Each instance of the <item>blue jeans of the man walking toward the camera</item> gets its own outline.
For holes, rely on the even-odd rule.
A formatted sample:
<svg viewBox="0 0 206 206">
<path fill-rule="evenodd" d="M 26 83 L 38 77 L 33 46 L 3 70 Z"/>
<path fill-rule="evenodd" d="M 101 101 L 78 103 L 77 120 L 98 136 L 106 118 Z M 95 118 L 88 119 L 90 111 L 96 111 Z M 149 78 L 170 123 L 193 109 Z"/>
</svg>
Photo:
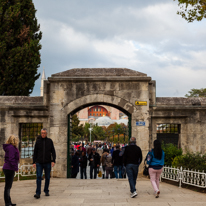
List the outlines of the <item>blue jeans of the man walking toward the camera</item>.
<svg viewBox="0 0 206 206">
<path fill-rule="evenodd" d="M 42 179 L 42 173 L 43 169 L 45 172 L 45 185 L 44 185 L 44 192 L 48 193 L 49 192 L 49 182 L 50 182 L 50 172 L 51 172 L 51 163 L 36 163 L 36 194 L 40 195 L 41 194 L 41 179 Z"/>
</svg>

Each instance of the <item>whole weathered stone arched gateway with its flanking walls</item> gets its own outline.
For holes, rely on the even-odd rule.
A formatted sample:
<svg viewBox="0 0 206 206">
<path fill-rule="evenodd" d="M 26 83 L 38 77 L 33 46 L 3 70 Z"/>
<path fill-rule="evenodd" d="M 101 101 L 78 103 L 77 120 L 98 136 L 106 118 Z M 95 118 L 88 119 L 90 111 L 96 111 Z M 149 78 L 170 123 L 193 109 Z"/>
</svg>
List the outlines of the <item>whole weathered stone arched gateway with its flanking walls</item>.
<svg viewBox="0 0 206 206">
<path fill-rule="evenodd" d="M 45 80 L 43 96 L 0 96 L 0 166 L 10 134 L 20 137 L 20 163 L 32 163 L 35 138 L 46 127 L 57 153 L 54 176 L 68 177 L 70 117 L 91 105 L 113 106 L 128 115 L 129 136 L 137 139 L 144 157 L 155 139 L 183 152 L 206 152 L 206 98 L 156 97 L 155 81 L 130 69 L 71 69 Z"/>
</svg>

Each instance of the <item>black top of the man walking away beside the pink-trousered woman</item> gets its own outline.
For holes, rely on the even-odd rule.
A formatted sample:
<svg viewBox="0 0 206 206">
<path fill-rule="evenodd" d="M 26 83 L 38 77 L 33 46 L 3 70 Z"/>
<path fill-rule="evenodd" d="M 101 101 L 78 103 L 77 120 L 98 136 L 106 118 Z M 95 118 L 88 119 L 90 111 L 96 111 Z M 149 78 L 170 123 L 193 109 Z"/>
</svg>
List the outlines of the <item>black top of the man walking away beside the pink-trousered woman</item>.
<svg viewBox="0 0 206 206">
<path fill-rule="evenodd" d="M 137 145 L 129 145 L 125 147 L 123 159 L 125 166 L 127 164 L 140 165 L 142 162 L 142 150 Z"/>
</svg>

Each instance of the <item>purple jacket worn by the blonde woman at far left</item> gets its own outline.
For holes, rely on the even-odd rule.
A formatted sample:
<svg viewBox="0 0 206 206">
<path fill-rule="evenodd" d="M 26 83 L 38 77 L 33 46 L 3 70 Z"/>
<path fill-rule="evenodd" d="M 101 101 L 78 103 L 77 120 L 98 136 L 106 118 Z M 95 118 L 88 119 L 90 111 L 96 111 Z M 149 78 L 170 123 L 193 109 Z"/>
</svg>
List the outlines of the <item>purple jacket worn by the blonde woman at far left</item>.
<svg viewBox="0 0 206 206">
<path fill-rule="evenodd" d="M 19 150 L 12 144 L 3 144 L 3 149 L 5 151 L 5 163 L 3 169 L 17 171 L 19 163 Z"/>
</svg>

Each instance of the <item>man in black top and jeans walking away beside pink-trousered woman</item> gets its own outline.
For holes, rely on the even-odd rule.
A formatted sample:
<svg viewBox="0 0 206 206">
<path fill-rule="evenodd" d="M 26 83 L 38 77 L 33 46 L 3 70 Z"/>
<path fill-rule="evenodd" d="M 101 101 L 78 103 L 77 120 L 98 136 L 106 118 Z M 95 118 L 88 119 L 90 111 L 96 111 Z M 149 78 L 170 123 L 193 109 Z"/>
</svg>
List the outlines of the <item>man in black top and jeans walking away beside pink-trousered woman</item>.
<svg viewBox="0 0 206 206">
<path fill-rule="evenodd" d="M 135 137 L 132 137 L 130 145 L 125 147 L 123 158 L 130 185 L 131 198 L 134 198 L 137 196 L 136 181 L 139 165 L 142 162 L 142 150 L 136 145 Z"/>
</svg>

